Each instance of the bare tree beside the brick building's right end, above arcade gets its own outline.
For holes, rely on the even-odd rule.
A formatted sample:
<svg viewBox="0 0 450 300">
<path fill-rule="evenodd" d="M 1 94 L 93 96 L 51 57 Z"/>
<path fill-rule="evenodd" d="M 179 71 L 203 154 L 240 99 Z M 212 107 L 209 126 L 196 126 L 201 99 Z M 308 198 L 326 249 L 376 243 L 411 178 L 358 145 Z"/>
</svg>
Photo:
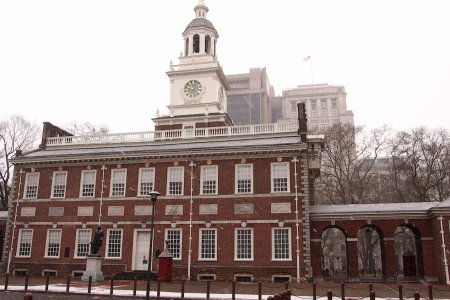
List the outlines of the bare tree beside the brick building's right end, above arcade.
<svg viewBox="0 0 450 300">
<path fill-rule="evenodd" d="M 325 129 L 321 175 L 316 182 L 316 199 L 322 204 L 371 202 L 377 185 L 372 171 L 385 150 L 387 127 L 367 132 L 363 127 L 334 124 Z"/>
</svg>

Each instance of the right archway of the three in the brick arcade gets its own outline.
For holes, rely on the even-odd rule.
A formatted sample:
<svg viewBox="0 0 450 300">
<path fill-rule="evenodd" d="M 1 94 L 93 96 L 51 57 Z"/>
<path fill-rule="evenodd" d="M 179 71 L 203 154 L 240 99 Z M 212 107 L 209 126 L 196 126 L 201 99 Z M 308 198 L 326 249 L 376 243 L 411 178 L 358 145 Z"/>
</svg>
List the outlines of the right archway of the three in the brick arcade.
<svg viewBox="0 0 450 300">
<path fill-rule="evenodd" d="M 394 231 L 395 267 L 398 277 L 423 276 L 421 234 L 412 224 L 401 224 Z"/>
</svg>

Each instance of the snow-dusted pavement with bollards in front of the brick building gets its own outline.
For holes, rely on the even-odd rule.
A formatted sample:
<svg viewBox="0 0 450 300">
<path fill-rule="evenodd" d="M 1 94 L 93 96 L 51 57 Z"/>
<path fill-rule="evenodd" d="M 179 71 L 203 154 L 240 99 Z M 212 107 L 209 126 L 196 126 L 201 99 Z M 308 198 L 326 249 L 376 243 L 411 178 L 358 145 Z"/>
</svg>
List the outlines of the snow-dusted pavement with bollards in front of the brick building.
<svg viewBox="0 0 450 300">
<path fill-rule="evenodd" d="M 12 277 L 8 282 L 8 289 L 4 287 L 4 277 L 0 276 L 0 299 L 24 299 L 26 292 L 33 294 L 33 300 L 40 299 L 124 299 L 124 298 L 144 298 L 145 297 L 145 281 L 114 281 L 113 296 L 110 296 L 110 281 L 94 282 L 91 287 L 91 294 L 88 294 L 88 283 L 79 279 L 72 279 L 69 283 L 69 293 L 67 290 L 67 279 L 50 278 L 48 292 L 45 292 L 45 278 L 34 277 L 29 278 L 28 290 L 24 291 L 24 278 Z M 317 299 L 327 299 L 327 292 L 332 291 L 335 299 L 341 298 L 341 284 L 336 282 L 320 282 L 316 284 Z M 369 299 L 369 288 L 372 287 L 375 292 L 376 299 L 399 299 L 398 283 L 345 283 L 345 296 L 347 299 Z M 285 283 L 273 282 L 248 282 L 236 283 L 235 299 L 258 300 L 259 291 L 261 291 L 261 299 L 267 299 L 269 295 L 281 293 L 285 290 Z M 309 300 L 313 299 L 312 283 L 289 283 L 288 288 L 292 292 L 292 300 Z M 402 283 L 402 294 L 404 299 L 414 299 L 414 293 L 419 293 L 421 299 L 429 299 L 429 289 L 431 288 L 433 299 L 449 300 L 450 286 L 448 285 L 428 285 L 425 282 L 405 282 Z M 152 282 L 151 298 L 157 298 L 157 285 Z M 136 290 L 136 292 L 134 292 Z M 232 299 L 232 283 L 231 282 L 210 282 L 191 281 L 184 283 L 184 297 L 186 299 L 207 299 L 209 290 L 210 299 Z M 160 297 L 165 299 L 180 299 L 182 291 L 182 283 L 178 282 L 161 282 Z M 134 293 L 136 294 L 134 296 Z M 97 297 L 97 298 L 96 298 Z M 339 297 L 339 298 L 338 298 Z"/>
</svg>

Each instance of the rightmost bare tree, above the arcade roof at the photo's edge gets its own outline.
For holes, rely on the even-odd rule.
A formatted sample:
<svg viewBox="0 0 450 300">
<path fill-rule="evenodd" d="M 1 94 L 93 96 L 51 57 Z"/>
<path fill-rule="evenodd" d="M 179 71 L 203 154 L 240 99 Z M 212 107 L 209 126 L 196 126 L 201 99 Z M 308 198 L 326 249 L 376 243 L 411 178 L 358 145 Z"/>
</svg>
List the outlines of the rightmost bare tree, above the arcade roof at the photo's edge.
<svg viewBox="0 0 450 300">
<path fill-rule="evenodd" d="M 450 196 L 449 132 L 424 127 L 390 141 L 391 178 L 401 202 L 443 201 Z"/>
</svg>

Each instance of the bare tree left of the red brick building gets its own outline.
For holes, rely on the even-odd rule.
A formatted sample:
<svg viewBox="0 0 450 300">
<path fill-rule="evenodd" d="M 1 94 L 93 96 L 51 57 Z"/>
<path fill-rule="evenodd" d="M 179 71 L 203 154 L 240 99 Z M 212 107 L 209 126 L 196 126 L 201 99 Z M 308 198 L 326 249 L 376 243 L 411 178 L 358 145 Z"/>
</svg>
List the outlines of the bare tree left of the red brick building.
<svg viewBox="0 0 450 300">
<path fill-rule="evenodd" d="M 16 150 L 31 150 L 37 141 L 38 134 L 39 127 L 22 116 L 14 115 L 0 121 L 0 210 L 8 208 L 13 170 L 11 158 L 15 155 Z"/>
</svg>

